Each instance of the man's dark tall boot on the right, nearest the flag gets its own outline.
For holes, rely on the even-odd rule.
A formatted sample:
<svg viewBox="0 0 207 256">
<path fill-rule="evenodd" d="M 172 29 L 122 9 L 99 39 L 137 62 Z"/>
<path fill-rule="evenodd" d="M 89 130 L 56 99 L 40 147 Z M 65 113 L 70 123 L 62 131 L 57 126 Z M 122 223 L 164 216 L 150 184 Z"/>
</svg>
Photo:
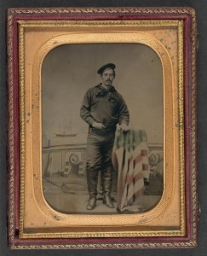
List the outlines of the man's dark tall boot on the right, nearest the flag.
<svg viewBox="0 0 207 256">
<path fill-rule="evenodd" d="M 104 168 L 103 172 L 103 187 L 104 187 L 104 195 L 103 195 L 103 203 L 106 207 L 114 208 L 114 204 L 111 197 L 112 192 L 112 166 L 107 166 Z"/>
</svg>

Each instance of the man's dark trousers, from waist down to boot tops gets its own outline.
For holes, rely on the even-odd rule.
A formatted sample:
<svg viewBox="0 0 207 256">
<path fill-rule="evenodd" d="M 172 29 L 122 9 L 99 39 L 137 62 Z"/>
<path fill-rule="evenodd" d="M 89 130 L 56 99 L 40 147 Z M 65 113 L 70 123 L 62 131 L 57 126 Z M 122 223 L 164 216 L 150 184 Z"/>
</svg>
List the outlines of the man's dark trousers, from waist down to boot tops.
<svg viewBox="0 0 207 256">
<path fill-rule="evenodd" d="M 89 196 L 97 195 L 98 174 L 101 171 L 103 193 L 111 194 L 112 190 L 112 148 L 114 132 L 107 136 L 89 131 L 86 148 L 86 175 Z"/>
</svg>

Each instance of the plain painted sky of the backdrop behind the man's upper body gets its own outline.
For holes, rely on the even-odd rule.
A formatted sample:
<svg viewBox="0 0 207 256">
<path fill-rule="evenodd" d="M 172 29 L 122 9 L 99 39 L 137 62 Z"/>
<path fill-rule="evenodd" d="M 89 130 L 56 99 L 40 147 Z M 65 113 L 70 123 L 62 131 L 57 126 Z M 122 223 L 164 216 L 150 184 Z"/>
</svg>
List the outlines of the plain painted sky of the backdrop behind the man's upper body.
<svg viewBox="0 0 207 256">
<path fill-rule="evenodd" d="M 143 44 L 66 44 L 51 50 L 42 67 L 43 135 L 78 133 L 85 143 L 83 95 L 101 82 L 97 69 L 108 62 L 117 66 L 113 85 L 128 105 L 130 127 L 146 130 L 148 143 L 163 143 L 162 64 Z"/>
</svg>

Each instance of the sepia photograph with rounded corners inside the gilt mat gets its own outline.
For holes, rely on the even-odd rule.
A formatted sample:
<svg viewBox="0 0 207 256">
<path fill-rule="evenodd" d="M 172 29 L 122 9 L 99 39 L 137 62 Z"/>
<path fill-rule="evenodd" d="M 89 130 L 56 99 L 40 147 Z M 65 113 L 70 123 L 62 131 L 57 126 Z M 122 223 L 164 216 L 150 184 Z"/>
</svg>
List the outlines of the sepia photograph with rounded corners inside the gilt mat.
<svg viewBox="0 0 207 256">
<path fill-rule="evenodd" d="M 42 65 L 43 195 L 63 213 L 147 212 L 164 188 L 163 69 L 144 44 L 64 44 Z"/>
</svg>

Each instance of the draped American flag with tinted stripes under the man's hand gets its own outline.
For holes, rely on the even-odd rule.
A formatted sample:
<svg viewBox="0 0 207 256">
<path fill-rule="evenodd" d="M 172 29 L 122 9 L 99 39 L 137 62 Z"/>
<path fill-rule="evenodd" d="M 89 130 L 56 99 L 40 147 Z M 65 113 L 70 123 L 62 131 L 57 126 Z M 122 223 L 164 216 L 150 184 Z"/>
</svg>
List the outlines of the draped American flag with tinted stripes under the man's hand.
<svg viewBox="0 0 207 256">
<path fill-rule="evenodd" d="M 150 174 L 148 155 L 145 131 L 116 132 L 112 163 L 118 172 L 118 212 L 136 206 L 137 199 L 143 195 L 144 178 L 148 180 Z"/>
</svg>

